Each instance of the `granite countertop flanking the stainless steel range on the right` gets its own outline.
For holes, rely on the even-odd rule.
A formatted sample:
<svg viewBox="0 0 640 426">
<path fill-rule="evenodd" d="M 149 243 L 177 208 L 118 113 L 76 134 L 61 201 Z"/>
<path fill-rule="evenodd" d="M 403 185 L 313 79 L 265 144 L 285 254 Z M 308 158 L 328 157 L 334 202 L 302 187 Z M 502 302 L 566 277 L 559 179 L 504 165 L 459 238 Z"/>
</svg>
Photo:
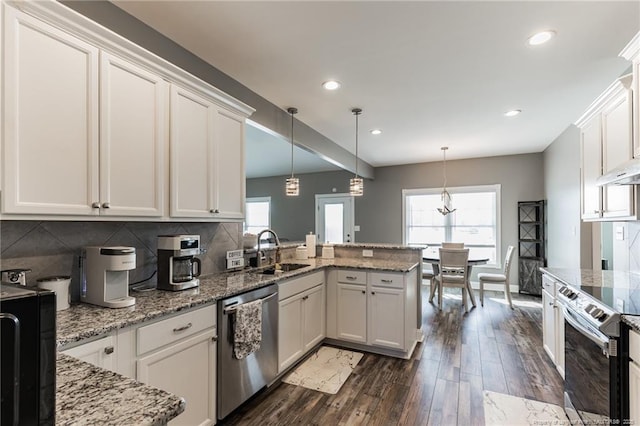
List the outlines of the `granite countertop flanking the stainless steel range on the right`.
<svg viewBox="0 0 640 426">
<path fill-rule="evenodd" d="M 640 289 L 640 274 L 627 271 L 594 271 L 592 269 L 540 268 L 555 279 L 573 287 L 610 287 Z M 622 321 L 640 332 L 640 317 L 621 315 Z"/>
</svg>

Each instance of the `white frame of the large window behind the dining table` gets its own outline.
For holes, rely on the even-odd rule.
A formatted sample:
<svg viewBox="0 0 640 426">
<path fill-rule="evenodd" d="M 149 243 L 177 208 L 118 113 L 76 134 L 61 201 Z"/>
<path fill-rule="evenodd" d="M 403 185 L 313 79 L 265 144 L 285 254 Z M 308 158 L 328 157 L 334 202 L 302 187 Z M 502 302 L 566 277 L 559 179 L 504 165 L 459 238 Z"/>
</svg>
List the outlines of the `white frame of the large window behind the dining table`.
<svg viewBox="0 0 640 426">
<path fill-rule="evenodd" d="M 496 196 L 496 224 L 495 224 L 495 233 L 496 233 L 496 261 L 495 263 L 487 263 L 483 265 L 488 268 L 502 268 L 502 185 L 501 184 L 492 184 L 492 185 L 473 185 L 473 186 L 456 186 L 456 187 L 447 187 L 447 191 L 455 198 L 456 193 L 478 193 L 478 192 L 493 192 Z M 403 189 L 402 190 L 402 244 L 407 244 L 408 237 L 408 228 L 407 228 L 407 214 L 408 214 L 408 206 L 407 200 L 408 197 L 416 196 L 416 195 L 434 195 L 442 193 L 442 187 L 438 188 L 415 188 L 415 189 Z M 455 208 L 455 203 L 454 206 Z M 448 219 L 445 219 L 445 235 L 447 237 L 451 236 L 452 224 Z"/>
</svg>

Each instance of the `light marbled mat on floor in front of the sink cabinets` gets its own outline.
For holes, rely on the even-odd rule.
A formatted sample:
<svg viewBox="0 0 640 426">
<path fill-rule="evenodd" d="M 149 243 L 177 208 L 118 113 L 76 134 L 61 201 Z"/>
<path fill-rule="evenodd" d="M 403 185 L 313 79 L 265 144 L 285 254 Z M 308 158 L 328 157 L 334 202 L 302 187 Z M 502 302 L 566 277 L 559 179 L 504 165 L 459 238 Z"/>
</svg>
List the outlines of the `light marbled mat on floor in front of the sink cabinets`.
<svg viewBox="0 0 640 426">
<path fill-rule="evenodd" d="M 361 358 L 360 352 L 321 346 L 282 381 L 307 389 L 336 394 Z"/>
</svg>

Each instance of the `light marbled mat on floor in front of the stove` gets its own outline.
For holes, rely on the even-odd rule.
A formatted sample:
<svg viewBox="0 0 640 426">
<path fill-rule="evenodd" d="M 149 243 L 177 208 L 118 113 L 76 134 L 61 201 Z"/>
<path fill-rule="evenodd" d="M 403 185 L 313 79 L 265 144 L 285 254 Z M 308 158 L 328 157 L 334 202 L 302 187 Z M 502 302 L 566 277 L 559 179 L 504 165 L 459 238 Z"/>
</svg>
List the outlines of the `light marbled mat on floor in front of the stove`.
<svg viewBox="0 0 640 426">
<path fill-rule="evenodd" d="M 484 391 L 483 405 L 486 426 L 569 425 L 559 405 L 489 391 Z"/>
</svg>

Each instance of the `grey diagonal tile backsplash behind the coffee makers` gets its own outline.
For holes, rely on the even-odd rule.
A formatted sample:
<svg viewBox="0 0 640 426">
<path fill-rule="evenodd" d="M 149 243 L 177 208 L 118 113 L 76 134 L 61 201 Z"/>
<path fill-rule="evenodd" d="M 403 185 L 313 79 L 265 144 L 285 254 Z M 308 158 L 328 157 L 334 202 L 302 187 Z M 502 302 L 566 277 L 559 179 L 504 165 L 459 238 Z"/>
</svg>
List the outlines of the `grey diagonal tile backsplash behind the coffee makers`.
<svg viewBox="0 0 640 426">
<path fill-rule="evenodd" d="M 71 299 L 80 299 L 79 257 L 86 246 L 136 248 L 136 269 L 129 281 L 143 280 L 156 270 L 157 237 L 200 235 L 202 274 L 224 271 L 227 250 L 242 247 L 241 223 L 53 222 L 0 221 L 0 268 L 28 268 L 27 284 L 51 275 L 70 275 Z M 156 277 L 149 280 L 155 284 Z"/>
</svg>

